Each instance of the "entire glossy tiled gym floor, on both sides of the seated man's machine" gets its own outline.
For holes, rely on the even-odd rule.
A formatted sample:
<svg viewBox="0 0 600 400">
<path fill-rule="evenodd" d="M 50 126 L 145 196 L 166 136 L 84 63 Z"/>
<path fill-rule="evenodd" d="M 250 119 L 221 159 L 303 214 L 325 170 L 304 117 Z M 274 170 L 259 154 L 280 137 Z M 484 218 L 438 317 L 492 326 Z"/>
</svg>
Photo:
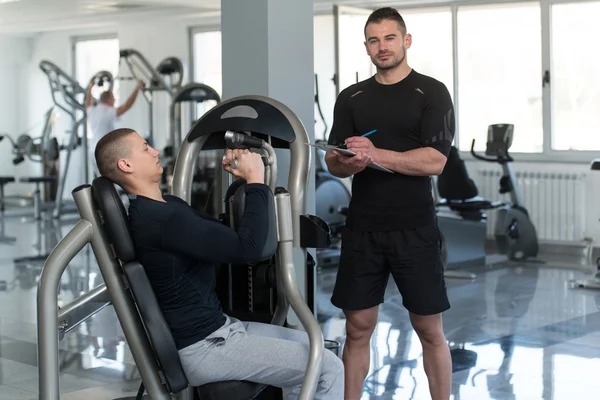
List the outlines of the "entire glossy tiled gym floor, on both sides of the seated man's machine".
<svg viewBox="0 0 600 400">
<path fill-rule="evenodd" d="M 0 242 L 0 281 L 7 286 L 0 282 L 0 399 L 34 399 L 38 391 L 35 299 L 40 265 L 16 267 L 13 259 L 44 254 L 71 226 L 5 219 L 4 235 L 17 240 Z M 499 263 L 475 270 L 473 282 L 448 280 L 452 308 L 444 315 L 444 327 L 452 349 L 452 399 L 600 396 L 600 291 L 568 285 L 591 270 L 575 258 L 540 258 L 546 263 Z M 98 284 L 97 272 L 88 249 L 67 268 L 59 303 Z M 327 339 L 343 344 L 343 315 L 329 301 L 334 279 L 335 270 L 319 273 L 319 321 Z M 67 335 L 61 350 L 61 398 L 135 395 L 139 374 L 112 308 L 94 317 L 89 328 L 83 324 Z M 421 352 L 392 283 L 373 335 L 363 399 L 429 399 Z"/>
</svg>

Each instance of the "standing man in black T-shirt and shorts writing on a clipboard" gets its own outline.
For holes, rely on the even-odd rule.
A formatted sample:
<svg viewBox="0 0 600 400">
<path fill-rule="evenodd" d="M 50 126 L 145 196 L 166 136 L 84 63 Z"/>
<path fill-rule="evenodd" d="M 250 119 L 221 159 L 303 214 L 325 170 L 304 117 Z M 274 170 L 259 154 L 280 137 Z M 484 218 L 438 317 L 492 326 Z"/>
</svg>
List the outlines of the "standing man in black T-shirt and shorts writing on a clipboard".
<svg viewBox="0 0 600 400">
<path fill-rule="evenodd" d="M 423 346 L 431 397 L 450 397 L 452 360 L 442 326 L 450 304 L 430 177 L 444 169 L 454 110 L 444 84 L 408 66 L 411 42 L 397 10 L 381 8 L 369 16 L 365 46 L 377 73 L 340 93 L 329 137 L 356 155 L 333 151 L 325 158 L 331 174 L 354 175 L 331 298 L 346 316 L 347 400 L 361 396 L 390 273 Z M 368 167 L 372 162 L 393 173 Z"/>
</svg>

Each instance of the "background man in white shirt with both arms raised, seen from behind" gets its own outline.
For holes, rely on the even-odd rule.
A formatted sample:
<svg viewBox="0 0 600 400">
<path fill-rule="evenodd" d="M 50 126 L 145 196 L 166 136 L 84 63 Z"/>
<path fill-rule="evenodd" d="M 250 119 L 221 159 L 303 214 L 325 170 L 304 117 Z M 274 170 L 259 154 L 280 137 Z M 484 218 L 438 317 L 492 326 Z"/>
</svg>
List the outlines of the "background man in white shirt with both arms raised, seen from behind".
<svg viewBox="0 0 600 400">
<path fill-rule="evenodd" d="M 115 95 L 112 90 L 107 90 L 100 95 L 100 101 L 94 105 L 94 97 L 92 96 L 92 88 L 94 82 L 90 82 L 87 88 L 87 94 L 85 97 L 85 110 L 87 116 L 87 122 L 91 130 L 91 138 L 88 139 L 88 160 L 92 162 L 92 169 L 96 175 L 98 174 L 98 168 L 94 160 L 94 149 L 96 144 L 106 135 L 108 132 L 112 132 L 117 129 L 118 118 L 125 114 L 131 106 L 135 103 L 138 93 L 144 87 L 144 82 L 138 81 L 135 89 L 129 95 L 125 103 L 119 107 L 115 107 Z M 89 136 L 88 136 L 89 137 Z"/>
</svg>

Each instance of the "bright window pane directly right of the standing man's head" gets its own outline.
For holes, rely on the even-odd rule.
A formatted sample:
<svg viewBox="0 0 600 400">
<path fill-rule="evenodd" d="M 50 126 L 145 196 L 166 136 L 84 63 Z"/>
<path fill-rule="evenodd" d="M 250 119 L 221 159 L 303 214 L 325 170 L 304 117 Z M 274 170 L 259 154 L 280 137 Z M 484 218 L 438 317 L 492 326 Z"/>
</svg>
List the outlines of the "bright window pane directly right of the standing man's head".
<svg viewBox="0 0 600 400">
<path fill-rule="evenodd" d="M 454 97 L 452 12 L 449 8 L 400 10 L 412 35 L 408 65 L 446 85 Z"/>
</svg>

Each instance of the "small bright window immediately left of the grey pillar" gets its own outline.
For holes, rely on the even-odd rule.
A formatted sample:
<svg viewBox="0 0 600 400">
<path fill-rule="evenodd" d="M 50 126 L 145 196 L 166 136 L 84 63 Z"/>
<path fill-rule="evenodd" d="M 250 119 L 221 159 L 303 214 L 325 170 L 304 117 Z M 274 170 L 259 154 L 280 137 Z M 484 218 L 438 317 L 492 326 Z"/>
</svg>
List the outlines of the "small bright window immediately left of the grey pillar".
<svg viewBox="0 0 600 400">
<path fill-rule="evenodd" d="M 221 72 L 221 31 L 194 32 L 192 36 L 194 59 L 194 82 L 203 83 L 215 89 L 219 96 L 223 93 Z M 196 118 L 216 105 L 214 101 L 199 103 Z"/>
</svg>

